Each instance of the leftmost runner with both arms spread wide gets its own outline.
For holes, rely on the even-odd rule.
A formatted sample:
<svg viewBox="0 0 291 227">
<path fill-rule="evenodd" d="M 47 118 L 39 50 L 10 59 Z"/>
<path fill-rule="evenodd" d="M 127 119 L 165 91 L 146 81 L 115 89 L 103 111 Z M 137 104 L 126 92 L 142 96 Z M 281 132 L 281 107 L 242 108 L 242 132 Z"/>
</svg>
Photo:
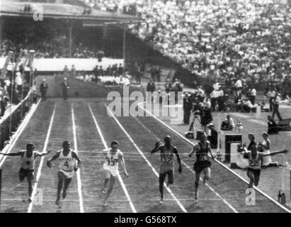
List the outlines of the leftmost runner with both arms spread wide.
<svg viewBox="0 0 291 227">
<path fill-rule="evenodd" d="M 28 202 L 31 202 L 31 194 L 33 194 L 33 179 L 34 179 L 34 167 L 35 167 L 35 158 L 47 155 L 51 152 L 51 150 L 47 150 L 45 153 L 39 153 L 34 150 L 35 147 L 32 143 L 28 143 L 26 145 L 26 150 L 19 150 L 17 153 L 0 153 L 1 155 L 7 156 L 21 156 L 22 164 L 21 170 L 18 172 L 18 177 L 21 182 L 23 179 L 27 179 L 28 181 Z"/>
</svg>

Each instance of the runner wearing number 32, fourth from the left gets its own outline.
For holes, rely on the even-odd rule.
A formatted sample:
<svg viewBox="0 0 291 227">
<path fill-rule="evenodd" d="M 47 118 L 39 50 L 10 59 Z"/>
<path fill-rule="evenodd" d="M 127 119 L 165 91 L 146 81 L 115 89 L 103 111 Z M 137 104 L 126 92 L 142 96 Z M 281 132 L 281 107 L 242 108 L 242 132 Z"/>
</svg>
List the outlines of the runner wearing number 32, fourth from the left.
<svg viewBox="0 0 291 227">
<path fill-rule="evenodd" d="M 171 145 L 171 137 L 170 135 L 167 135 L 164 138 L 165 144 L 160 144 L 159 142 L 156 142 L 154 150 L 151 151 L 152 154 L 160 151 L 161 153 L 161 166 L 159 169 L 159 192 L 161 193 L 161 200 L 160 204 L 164 204 L 164 182 L 166 179 L 166 175 L 168 175 L 168 182 L 166 184 L 167 187 L 169 187 L 171 184 L 173 184 L 173 172 L 175 170 L 175 165 L 173 163 L 173 154 L 176 155 L 178 160 L 178 172 L 181 174 L 182 172 L 182 165 L 181 165 L 181 159 L 178 155 L 178 150 L 176 147 Z"/>
</svg>

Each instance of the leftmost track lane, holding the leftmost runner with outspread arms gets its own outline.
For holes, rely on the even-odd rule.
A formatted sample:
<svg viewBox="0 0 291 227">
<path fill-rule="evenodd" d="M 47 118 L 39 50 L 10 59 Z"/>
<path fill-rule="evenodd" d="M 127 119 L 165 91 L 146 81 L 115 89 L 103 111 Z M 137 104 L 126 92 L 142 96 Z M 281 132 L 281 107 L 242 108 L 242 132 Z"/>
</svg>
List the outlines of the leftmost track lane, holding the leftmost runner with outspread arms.
<svg viewBox="0 0 291 227">
<path fill-rule="evenodd" d="M 11 153 L 25 149 L 27 143 L 34 143 L 35 150 L 42 151 L 45 143 L 44 132 L 50 124 L 53 106 L 52 102 L 40 103 L 33 117 L 20 135 Z M 40 157 L 35 160 L 35 172 L 38 171 Z M 27 212 L 28 184 L 26 179 L 20 182 L 18 171 L 21 168 L 21 157 L 7 156 L 2 166 L 1 212 Z"/>
</svg>

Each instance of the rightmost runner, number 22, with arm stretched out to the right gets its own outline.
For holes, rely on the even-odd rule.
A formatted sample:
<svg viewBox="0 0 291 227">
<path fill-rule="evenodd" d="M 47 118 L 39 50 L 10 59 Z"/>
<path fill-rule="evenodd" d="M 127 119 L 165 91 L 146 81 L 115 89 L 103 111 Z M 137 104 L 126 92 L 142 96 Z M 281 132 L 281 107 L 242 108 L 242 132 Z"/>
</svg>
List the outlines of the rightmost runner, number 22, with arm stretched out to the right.
<svg viewBox="0 0 291 227">
<path fill-rule="evenodd" d="M 250 182 L 249 182 L 249 188 L 253 188 L 253 184 L 255 186 L 258 186 L 258 182 L 260 181 L 260 175 L 261 175 L 261 164 L 263 157 L 267 156 L 273 156 L 278 155 L 280 153 L 287 153 L 288 150 L 280 150 L 280 151 L 274 151 L 272 153 L 261 153 L 258 152 L 258 147 L 256 145 L 252 145 L 250 150 L 244 151 L 244 157 L 249 159 L 249 167 L 247 167 L 246 174 L 248 175 Z"/>
</svg>

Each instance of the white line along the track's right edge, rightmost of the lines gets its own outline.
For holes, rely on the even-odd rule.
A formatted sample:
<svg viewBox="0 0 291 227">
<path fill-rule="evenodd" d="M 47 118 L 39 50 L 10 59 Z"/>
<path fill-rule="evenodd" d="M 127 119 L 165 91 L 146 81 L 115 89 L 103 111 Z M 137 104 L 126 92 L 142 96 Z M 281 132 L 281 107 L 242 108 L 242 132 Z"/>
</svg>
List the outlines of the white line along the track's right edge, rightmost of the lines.
<svg viewBox="0 0 291 227">
<path fill-rule="evenodd" d="M 154 116 L 152 113 L 150 113 L 149 111 L 147 111 L 147 109 L 144 109 L 143 106 L 141 106 L 140 104 L 144 104 L 144 103 L 139 103 L 138 106 L 141 107 L 144 111 L 146 111 L 150 116 L 152 116 L 154 119 L 156 119 L 156 121 L 159 121 L 161 124 L 163 124 L 164 126 L 166 126 L 167 128 L 169 128 L 171 131 L 173 131 L 174 133 L 176 133 L 178 136 L 180 136 L 181 138 L 183 138 L 183 140 L 186 140 L 188 143 L 194 145 L 194 143 L 192 143 L 190 140 L 188 140 L 187 138 L 185 138 L 183 135 L 181 135 L 181 133 L 179 133 L 178 131 L 176 131 L 175 129 L 171 128 L 170 126 L 168 126 L 166 123 L 164 123 L 164 121 L 161 121 L 159 118 L 157 118 L 156 116 Z M 243 177 L 241 177 L 240 175 L 238 175 L 236 172 L 234 172 L 234 170 L 230 169 L 229 167 L 227 167 L 226 165 L 224 165 L 222 162 L 219 162 L 218 160 L 215 159 L 215 162 L 217 162 L 219 165 L 221 165 L 222 167 L 224 167 L 225 169 L 227 169 L 229 172 L 232 172 L 233 175 L 235 175 L 236 177 L 238 177 L 239 179 L 241 179 L 243 182 L 246 182 L 246 184 L 249 184 L 249 182 L 244 179 Z M 281 209 L 283 209 L 284 211 L 287 211 L 288 213 L 291 213 L 291 210 L 287 209 L 285 206 L 281 205 L 278 203 L 278 201 L 275 201 L 275 199 L 273 199 L 272 197 L 268 196 L 268 194 L 266 194 L 265 192 L 261 191 L 261 189 L 258 189 L 257 187 L 253 187 L 254 189 L 256 189 L 258 192 L 260 192 L 263 196 L 265 196 L 267 199 L 269 199 L 270 201 L 273 201 L 274 204 L 276 204 L 277 206 L 279 206 Z"/>
</svg>

